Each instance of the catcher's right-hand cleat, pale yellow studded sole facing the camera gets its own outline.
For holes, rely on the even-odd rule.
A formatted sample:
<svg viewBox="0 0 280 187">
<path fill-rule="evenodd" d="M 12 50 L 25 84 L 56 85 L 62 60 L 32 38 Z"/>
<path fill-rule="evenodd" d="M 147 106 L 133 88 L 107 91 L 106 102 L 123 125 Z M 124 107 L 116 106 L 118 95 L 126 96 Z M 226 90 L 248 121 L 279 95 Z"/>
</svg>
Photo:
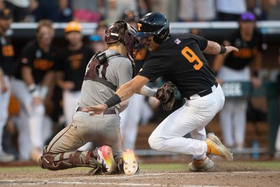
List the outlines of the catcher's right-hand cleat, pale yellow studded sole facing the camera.
<svg viewBox="0 0 280 187">
<path fill-rule="evenodd" d="M 123 151 L 123 171 L 126 175 L 134 175 L 140 171 L 134 152 L 129 148 Z"/>
</svg>

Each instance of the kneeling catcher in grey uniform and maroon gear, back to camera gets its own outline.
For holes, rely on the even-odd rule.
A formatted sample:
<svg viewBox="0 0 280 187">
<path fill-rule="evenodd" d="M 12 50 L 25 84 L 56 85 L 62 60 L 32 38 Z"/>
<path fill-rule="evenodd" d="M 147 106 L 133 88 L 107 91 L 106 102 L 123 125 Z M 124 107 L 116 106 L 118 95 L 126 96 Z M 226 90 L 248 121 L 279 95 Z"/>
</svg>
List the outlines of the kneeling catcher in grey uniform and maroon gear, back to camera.
<svg viewBox="0 0 280 187">
<path fill-rule="evenodd" d="M 134 37 L 135 33 L 136 29 L 122 20 L 106 29 L 108 50 L 97 53 L 87 64 L 73 123 L 45 146 L 39 160 L 43 169 L 92 167 L 89 174 L 124 172 L 133 175 L 139 172 L 134 152 L 130 149 L 123 151 L 121 142 L 119 113 L 125 108 L 125 102 L 97 117 L 83 112 L 85 107 L 101 104 L 109 99 L 116 88 L 132 79 L 132 57 L 134 48 L 139 43 Z M 99 148 L 93 151 L 76 151 L 89 141 Z"/>
</svg>

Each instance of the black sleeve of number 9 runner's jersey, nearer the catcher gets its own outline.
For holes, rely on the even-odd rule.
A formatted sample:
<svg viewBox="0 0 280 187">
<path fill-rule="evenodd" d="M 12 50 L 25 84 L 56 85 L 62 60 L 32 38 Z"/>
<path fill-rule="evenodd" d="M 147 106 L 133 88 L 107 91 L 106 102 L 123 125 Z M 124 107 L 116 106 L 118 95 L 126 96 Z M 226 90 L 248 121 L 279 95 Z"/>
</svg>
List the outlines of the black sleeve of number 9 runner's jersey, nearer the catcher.
<svg viewBox="0 0 280 187">
<path fill-rule="evenodd" d="M 140 76 L 144 76 L 148 78 L 150 81 L 155 81 L 160 76 L 163 76 L 165 74 L 165 71 L 168 63 L 165 63 L 165 60 L 162 60 L 160 58 L 148 58 L 143 66 L 142 69 L 139 71 Z"/>
</svg>

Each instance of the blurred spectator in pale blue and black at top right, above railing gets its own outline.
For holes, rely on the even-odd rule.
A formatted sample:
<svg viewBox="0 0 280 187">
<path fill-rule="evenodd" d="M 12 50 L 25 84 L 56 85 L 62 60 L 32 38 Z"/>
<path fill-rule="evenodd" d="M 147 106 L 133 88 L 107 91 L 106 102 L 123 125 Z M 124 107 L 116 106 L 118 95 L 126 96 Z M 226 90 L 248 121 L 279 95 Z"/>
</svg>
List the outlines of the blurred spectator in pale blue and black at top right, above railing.
<svg viewBox="0 0 280 187">
<path fill-rule="evenodd" d="M 216 0 L 218 20 L 236 21 L 246 12 L 246 0 Z"/>
</svg>

